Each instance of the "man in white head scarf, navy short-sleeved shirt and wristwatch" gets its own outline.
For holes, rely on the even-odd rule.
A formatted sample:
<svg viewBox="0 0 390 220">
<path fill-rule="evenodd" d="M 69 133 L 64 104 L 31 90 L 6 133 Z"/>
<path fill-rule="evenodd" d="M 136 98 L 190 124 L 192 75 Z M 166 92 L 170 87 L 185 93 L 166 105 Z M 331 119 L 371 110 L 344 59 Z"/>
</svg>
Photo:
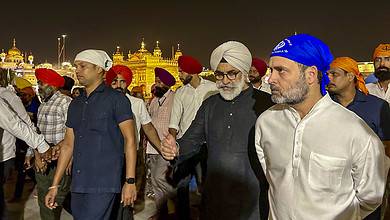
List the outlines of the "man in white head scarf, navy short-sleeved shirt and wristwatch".
<svg viewBox="0 0 390 220">
<path fill-rule="evenodd" d="M 131 205 L 136 199 L 136 144 L 131 104 L 104 84 L 112 66 L 106 52 L 85 50 L 75 58 L 76 75 L 85 92 L 69 106 L 66 133 L 53 184 L 45 203 L 55 208 L 58 185 L 73 156 L 72 215 L 75 220 L 110 219 L 115 197 Z M 125 161 L 126 182 L 121 186 Z"/>
</svg>

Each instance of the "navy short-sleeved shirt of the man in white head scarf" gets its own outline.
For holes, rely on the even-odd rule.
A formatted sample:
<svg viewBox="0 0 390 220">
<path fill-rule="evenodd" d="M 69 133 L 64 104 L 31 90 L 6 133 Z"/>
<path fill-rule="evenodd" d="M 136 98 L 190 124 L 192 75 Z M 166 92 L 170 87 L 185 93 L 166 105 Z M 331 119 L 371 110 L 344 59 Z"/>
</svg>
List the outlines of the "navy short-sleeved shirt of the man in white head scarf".
<svg viewBox="0 0 390 220">
<path fill-rule="evenodd" d="M 104 84 L 71 102 L 66 126 L 74 132 L 72 192 L 121 192 L 124 140 L 119 124 L 129 119 L 129 99 Z"/>
</svg>

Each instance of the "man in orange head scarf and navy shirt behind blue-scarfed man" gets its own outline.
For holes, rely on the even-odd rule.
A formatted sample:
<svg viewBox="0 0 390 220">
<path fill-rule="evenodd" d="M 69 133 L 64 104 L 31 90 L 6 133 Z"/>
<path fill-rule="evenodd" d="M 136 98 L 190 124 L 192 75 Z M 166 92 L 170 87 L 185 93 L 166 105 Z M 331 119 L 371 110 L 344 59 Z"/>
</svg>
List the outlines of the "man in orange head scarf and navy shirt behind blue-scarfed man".
<svg viewBox="0 0 390 220">
<path fill-rule="evenodd" d="M 383 99 L 368 94 L 357 62 L 352 58 L 336 58 L 330 66 L 328 91 L 332 99 L 361 117 L 382 140 L 386 154 L 389 156 L 389 104 Z M 386 204 L 386 199 L 383 201 L 383 204 Z M 381 219 L 381 207 L 378 207 L 365 219 Z"/>
</svg>

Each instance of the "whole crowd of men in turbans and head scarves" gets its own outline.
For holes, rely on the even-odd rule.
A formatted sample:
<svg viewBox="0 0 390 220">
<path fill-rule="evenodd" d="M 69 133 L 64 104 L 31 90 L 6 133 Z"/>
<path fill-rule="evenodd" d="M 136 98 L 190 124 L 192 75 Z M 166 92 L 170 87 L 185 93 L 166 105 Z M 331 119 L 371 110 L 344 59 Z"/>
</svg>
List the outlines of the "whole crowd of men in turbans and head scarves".
<svg viewBox="0 0 390 220">
<path fill-rule="evenodd" d="M 308 34 L 283 39 L 268 64 L 228 41 L 211 53 L 215 81 L 183 55 L 183 86 L 174 91 L 157 67 L 150 100 L 102 50 L 75 57 L 83 88 L 35 69 L 38 98 L 27 80 L 1 74 L 2 184 L 16 165 L 19 201 L 30 176 L 43 220 L 62 209 L 75 220 L 133 219 L 146 166 L 150 220 L 191 219 L 193 178 L 200 219 L 386 219 L 390 44 L 372 59 L 376 81 L 366 84 L 353 58 Z M 0 195 L 7 219 L 3 186 Z"/>
</svg>

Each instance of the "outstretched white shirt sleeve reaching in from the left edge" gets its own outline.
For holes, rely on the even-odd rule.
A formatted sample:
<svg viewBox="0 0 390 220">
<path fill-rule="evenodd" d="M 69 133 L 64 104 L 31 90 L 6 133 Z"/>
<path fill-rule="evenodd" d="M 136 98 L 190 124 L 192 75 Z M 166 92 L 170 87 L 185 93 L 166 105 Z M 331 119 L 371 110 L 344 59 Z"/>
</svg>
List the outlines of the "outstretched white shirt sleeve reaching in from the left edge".
<svg viewBox="0 0 390 220">
<path fill-rule="evenodd" d="M 43 153 L 49 149 L 43 135 L 37 134 L 35 130 L 23 122 L 13 110 L 9 108 L 7 102 L 0 98 L 0 133 L 8 131 L 15 137 L 26 142 L 27 145 L 38 149 Z"/>
</svg>

